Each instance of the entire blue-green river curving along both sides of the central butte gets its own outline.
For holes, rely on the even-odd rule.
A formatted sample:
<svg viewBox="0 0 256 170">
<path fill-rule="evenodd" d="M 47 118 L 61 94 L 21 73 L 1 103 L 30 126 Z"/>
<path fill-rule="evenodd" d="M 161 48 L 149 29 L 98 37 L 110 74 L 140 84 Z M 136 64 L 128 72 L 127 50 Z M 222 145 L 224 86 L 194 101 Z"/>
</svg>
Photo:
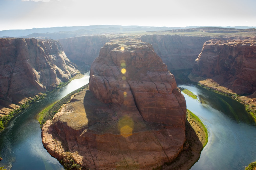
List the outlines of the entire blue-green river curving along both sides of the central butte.
<svg viewBox="0 0 256 170">
<path fill-rule="evenodd" d="M 0 166 L 12 170 L 63 169 L 43 147 L 40 125 L 35 117 L 50 103 L 88 82 L 87 73 L 82 79 L 73 80 L 68 86 L 55 90 L 16 116 L 0 134 L 0 155 L 4 158 Z M 227 96 L 193 84 L 181 81 L 177 84 L 198 96 L 195 100 L 184 94 L 187 108 L 202 120 L 209 132 L 209 142 L 191 169 L 244 169 L 250 162 L 256 161 L 255 121 L 244 106 Z"/>
</svg>

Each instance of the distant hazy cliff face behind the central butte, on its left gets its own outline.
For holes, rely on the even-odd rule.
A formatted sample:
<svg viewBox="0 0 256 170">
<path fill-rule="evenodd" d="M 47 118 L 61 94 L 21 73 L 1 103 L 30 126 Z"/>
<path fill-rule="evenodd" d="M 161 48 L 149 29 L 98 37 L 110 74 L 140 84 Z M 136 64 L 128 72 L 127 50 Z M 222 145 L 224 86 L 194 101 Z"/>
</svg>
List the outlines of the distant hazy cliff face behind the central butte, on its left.
<svg viewBox="0 0 256 170">
<path fill-rule="evenodd" d="M 83 36 L 60 39 L 67 57 L 76 64 L 91 65 L 99 56 L 100 48 L 104 46 L 110 37 Z"/>
</svg>

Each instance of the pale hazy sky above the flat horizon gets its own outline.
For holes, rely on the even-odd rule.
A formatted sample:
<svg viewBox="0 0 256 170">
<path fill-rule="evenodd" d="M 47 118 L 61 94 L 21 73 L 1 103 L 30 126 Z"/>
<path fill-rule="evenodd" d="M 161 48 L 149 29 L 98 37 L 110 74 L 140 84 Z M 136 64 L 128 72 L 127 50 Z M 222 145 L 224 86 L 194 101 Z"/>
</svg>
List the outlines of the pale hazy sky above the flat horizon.
<svg viewBox="0 0 256 170">
<path fill-rule="evenodd" d="M 0 0 L 0 30 L 86 25 L 253 26 L 255 0 Z"/>
</svg>

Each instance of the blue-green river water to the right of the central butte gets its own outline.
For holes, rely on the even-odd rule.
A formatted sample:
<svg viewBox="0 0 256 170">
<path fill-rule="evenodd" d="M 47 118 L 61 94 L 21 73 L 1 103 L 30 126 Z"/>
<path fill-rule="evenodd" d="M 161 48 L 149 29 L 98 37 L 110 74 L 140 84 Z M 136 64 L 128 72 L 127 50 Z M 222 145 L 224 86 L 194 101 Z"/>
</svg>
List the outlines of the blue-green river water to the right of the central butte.
<svg viewBox="0 0 256 170">
<path fill-rule="evenodd" d="M 198 96 L 184 94 L 187 109 L 206 125 L 209 142 L 191 169 L 244 169 L 256 161 L 256 126 L 244 106 L 227 96 L 191 84 L 179 85 Z"/>
</svg>

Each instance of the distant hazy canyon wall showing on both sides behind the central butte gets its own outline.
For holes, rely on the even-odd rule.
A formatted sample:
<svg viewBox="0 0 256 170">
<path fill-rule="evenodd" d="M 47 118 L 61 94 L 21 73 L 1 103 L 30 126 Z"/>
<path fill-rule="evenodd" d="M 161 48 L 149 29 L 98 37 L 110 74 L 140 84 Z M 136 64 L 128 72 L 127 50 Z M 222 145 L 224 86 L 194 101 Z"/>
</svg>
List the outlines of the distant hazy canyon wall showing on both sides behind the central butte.
<svg viewBox="0 0 256 170">
<path fill-rule="evenodd" d="M 60 39 L 67 57 L 76 64 L 91 65 L 99 56 L 100 48 L 114 37 L 83 36 Z M 192 69 L 203 44 L 212 37 L 180 35 L 142 35 L 143 42 L 151 43 L 156 54 L 169 70 Z"/>
</svg>

